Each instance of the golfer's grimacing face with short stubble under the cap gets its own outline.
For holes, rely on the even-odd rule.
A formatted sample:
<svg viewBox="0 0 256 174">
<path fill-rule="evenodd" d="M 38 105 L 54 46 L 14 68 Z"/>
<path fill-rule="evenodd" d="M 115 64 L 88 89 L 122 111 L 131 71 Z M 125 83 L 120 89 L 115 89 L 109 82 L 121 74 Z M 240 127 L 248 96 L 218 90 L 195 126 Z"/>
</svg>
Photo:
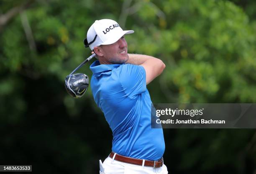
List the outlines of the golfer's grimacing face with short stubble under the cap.
<svg viewBox="0 0 256 174">
<path fill-rule="evenodd" d="M 128 46 L 124 36 L 122 36 L 114 44 L 101 45 L 104 62 L 106 64 L 123 64 L 128 61 Z"/>
</svg>

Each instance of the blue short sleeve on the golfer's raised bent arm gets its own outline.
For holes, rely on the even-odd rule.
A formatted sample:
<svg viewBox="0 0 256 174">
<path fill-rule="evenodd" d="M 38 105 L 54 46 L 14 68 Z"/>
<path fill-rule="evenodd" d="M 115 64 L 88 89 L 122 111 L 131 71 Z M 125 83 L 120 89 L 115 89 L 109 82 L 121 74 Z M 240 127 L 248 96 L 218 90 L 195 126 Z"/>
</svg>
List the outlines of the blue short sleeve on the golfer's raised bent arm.
<svg viewBox="0 0 256 174">
<path fill-rule="evenodd" d="M 146 91 L 146 71 L 144 67 L 123 64 L 120 66 L 119 77 L 123 90 L 130 98 Z"/>
</svg>

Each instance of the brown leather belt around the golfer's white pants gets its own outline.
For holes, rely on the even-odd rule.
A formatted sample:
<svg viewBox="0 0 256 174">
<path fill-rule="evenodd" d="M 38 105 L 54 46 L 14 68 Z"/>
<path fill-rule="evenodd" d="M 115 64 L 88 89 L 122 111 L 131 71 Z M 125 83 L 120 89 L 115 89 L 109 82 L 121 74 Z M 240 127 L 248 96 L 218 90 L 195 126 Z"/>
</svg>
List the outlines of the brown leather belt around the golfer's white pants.
<svg viewBox="0 0 256 174">
<path fill-rule="evenodd" d="M 113 158 L 114 154 L 115 154 L 114 152 L 111 152 L 109 154 L 109 157 Z M 140 165 L 140 166 L 142 166 L 142 163 L 143 163 L 142 159 L 130 158 L 130 157 L 122 156 L 122 155 L 119 155 L 119 154 L 115 155 L 115 160 L 125 162 L 125 163 L 129 163 L 129 164 L 136 164 L 136 165 Z M 154 168 L 159 168 L 162 165 L 163 165 L 163 158 L 161 158 L 157 161 L 145 160 L 145 163 L 144 163 L 144 166 L 154 167 Z"/>
</svg>

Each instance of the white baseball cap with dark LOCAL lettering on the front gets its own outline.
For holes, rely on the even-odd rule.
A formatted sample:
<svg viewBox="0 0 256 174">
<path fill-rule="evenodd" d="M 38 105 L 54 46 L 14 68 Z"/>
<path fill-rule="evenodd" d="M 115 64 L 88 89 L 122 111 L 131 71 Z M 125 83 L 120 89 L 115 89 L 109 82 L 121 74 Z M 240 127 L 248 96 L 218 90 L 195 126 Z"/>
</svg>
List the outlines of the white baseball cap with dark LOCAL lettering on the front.
<svg viewBox="0 0 256 174">
<path fill-rule="evenodd" d="M 123 31 L 115 20 L 95 20 L 87 32 L 87 38 L 84 39 L 84 46 L 93 50 L 95 46 L 113 44 L 123 35 L 131 33 L 134 31 Z"/>
</svg>

